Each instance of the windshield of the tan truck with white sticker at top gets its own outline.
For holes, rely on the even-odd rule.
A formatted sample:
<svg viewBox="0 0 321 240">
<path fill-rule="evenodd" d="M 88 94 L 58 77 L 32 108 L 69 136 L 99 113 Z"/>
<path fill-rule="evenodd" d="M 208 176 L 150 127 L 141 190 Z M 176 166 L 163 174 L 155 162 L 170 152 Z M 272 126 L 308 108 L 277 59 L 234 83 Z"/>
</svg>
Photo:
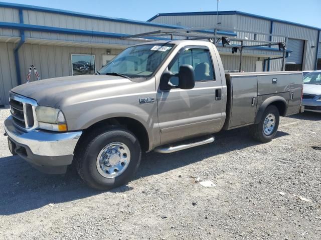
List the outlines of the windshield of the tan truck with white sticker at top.
<svg viewBox="0 0 321 240">
<path fill-rule="evenodd" d="M 104 65 L 98 74 L 123 75 L 128 78 L 150 77 L 174 44 L 131 46 Z"/>
</svg>

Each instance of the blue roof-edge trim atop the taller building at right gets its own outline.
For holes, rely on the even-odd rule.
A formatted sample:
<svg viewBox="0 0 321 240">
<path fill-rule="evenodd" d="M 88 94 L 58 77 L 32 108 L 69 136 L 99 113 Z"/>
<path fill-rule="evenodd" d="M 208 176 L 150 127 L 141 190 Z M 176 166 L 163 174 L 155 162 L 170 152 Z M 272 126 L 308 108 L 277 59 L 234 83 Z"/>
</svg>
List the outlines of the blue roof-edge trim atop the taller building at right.
<svg viewBox="0 0 321 240">
<path fill-rule="evenodd" d="M 243 12 L 243 11 L 219 11 L 218 13 L 219 13 L 219 15 L 238 14 L 238 15 L 244 15 L 244 16 L 251 16 L 251 17 L 270 20 L 270 21 L 272 20 L 272 21 L 276 21 L 276 22 L 282 22 L 282 23 L 286 23 L 286 24 L 307 27 L 307 28 L 311 28 L 314 30 L 321 30 L 321 28 L 318 28 L 315 26 L 308 26 L 308 25 L 304 25 L 304 24 L 296 23 L 296 22 L 292 22 L 292 21 L 286 21 L 286 20 L 276 19 L 276 18 L 267 17 L 267 16 L 260 16 L 260 15 L 256 15 L 256 14 L 252 14 L 252 13 Z M 151 17 L 150 19 L 148 19 L 147 21 L 151 21 L 151 20 L 157 18 L 158 16 L 192 16 L 192 15 L 217 15 L 217 12 L 216 11 L 191 11 L 191 12 L 158 13 L 158 14 L 154 15 L 153 17 Z"/>
</svg>

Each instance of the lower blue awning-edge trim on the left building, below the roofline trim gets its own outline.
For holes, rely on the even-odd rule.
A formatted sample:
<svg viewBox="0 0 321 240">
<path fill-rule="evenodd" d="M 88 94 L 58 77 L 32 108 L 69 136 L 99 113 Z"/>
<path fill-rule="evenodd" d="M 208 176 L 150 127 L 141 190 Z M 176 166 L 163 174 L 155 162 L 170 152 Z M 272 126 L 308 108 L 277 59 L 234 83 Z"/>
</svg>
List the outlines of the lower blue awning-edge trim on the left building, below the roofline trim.
<svg viewBox="0 0 321 240">
<path fill-rule="evenodd" d="M 54 32 L 54 33 L 63 33 L 63 34 L 76 34 L 76 35 L 87 35 L 87 36 L 102 36 L 102 37 L 111 37 L 119 38 L 122 36 L 128 36 L 129 34 L 124 33 L 115 33 L 115 32 L 103 32 L 103 31 L 88 31 L 72 28 L 63 28 L 63 27 L 53 27 L 53 26 L 41 26 L 41 25 L 32 25 L 32 24 L 23 24 L 23 23 L 14 23 L 14 22 L 0 22 L 0 27 L 3 28 L 14 28 L 19 30 L 30 30 L 30 31 L 45 31 L 45 32 Z M 171 38 L 166 37 L 145 37 L 148 39 L 154 40 L 171 40 Z"/>
</svg>

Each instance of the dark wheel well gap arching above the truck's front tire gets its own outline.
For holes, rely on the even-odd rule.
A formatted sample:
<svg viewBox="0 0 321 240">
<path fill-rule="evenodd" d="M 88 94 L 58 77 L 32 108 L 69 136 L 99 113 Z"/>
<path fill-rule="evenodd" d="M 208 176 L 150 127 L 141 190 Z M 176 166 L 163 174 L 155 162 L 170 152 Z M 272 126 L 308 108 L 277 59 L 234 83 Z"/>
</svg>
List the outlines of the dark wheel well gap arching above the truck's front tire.
<svg viewBox="0 0 321 240">
<path fill-rule="evenodd" d="M 128 129 L 138 138 L 140 146 L 143 151 L 147 151 L 149 148 L 149 138 L 148 133 L 139 121 L 130 118 L 130 117 L 112 117 L 99 122 L 94 123 L 87 129 L 84 129 L 82 137 L 85 137 L 89 132 L 93 130 L 93 128 L 101 127 L 101 126 L 120 126 L 122 128 Z"/>
</svg>

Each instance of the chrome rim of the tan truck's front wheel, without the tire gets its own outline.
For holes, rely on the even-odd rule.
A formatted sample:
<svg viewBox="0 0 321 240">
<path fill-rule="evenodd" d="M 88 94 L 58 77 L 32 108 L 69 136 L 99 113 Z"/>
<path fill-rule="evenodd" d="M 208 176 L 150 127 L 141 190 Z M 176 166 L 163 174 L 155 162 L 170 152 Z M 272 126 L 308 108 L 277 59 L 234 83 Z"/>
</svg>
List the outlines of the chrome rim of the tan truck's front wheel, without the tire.
<svg viewBox="0 0 321 240">
<path fill-rule="evenodd" d="M 99 152 L 96 167 L 100 175 L 107 178 L 119 176 L 130 161 L 130 150 L 122 142 L 111 142 Z"/>
</svg>

